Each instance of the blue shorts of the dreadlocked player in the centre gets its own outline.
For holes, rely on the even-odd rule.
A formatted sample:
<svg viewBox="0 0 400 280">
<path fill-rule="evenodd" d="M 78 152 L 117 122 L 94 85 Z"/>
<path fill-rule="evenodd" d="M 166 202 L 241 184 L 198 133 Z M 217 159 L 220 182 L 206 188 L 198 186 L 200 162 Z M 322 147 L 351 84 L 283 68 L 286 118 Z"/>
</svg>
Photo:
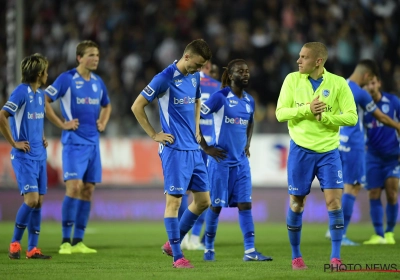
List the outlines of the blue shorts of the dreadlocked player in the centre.
<svg viewBox="0 0 400 280">
<path fill-rule="evenodd" d="M 238 203 L 251 203 L 251 173 L 247 158 L 240 165 L 231 167 L 210 158 L 208 176 L 213 207 L 237 207 Z"/>
</svg>

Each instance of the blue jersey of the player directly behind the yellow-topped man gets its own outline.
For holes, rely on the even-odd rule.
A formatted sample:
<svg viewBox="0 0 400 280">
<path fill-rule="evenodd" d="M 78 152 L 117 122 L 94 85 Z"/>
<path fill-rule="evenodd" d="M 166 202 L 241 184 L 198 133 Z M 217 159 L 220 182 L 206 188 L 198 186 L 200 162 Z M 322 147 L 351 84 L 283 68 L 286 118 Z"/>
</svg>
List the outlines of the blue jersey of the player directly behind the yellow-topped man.
<svg viewBox="0 0 400 280">
<path fill-rule="evenodd" d="M 358 84 L 348 80 L 354 101 L 357 105 L 358 121 L 355 126 L 342 126 L 340 128 L 339 150 L 349 152 L 351 150 L 364 150 L 365 139 L 363 130 L 364 112 L 372 113 L 376 110 L 376 104 L 371 95 Z"/>
</svg>

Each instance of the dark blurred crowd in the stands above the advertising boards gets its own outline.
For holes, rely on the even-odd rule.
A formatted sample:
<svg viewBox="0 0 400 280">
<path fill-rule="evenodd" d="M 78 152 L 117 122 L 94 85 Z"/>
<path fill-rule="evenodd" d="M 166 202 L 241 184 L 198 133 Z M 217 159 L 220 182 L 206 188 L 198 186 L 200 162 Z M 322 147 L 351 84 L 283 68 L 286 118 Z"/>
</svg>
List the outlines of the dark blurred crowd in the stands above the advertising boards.
<svg viewBox="0 0 400 280">
<path fill-rule="evenodd" d="M 106 136 L 140 136 L 131 104 L 152 77 L 205 39 L 220 68 L 243 58 L 251 73 L 248 92 L 257 102 L 256 133 L 286 132 L 275 118 L 285 76 L 297 71 L 302 45 L 329 48 L 328 71 L 347 78 L 357 61 L 378 62 L 383 89 L 400 96 L 400 1 L 396 0 L 35 0 L 24 1 L 24 55 L 50 61 L 48 83 L 76 66 L 75 47 L 99 44 L 100 66 L 113 112 Z M 0 84 L 5 102 L 4 10 L 0 26 Z M 158 124 L 156 102 L 149 106 Z M 60 131 L 46 126 L 47 136 Z"/>
</svg>

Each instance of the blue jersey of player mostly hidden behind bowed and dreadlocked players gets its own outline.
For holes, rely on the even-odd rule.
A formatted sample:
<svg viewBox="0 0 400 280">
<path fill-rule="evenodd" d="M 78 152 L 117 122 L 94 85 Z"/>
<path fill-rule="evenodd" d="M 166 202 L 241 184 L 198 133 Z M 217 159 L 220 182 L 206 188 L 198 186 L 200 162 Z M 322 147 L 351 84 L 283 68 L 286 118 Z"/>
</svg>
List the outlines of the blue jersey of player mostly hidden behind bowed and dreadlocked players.
<svg viewBox="0 0 400 280">
<path fill-rule="evenodd" d="M 206 102 L 211 94 L 221 89 L 221 83 L 200 72 L 201 102 Z M 212 114 L 203 115 L 200 119 L 200 129 L 204 140 L 208 145 L 215 143 L 215 131 L 213 126 L 214 117 Z"/>
</svg>

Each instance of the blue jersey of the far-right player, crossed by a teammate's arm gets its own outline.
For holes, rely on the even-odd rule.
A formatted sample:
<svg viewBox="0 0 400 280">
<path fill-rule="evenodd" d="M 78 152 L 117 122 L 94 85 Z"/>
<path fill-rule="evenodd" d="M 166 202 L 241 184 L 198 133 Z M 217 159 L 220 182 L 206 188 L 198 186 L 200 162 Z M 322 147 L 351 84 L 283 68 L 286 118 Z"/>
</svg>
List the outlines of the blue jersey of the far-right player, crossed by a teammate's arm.
<svg viewBox="0 0 400 280">
<path fill-rule="evenodd" d="M 376 105 L 393 120 L 399 121 L 400 101 L 395 95 L 382 92 L 382 98 Z M 367 113 L 364 116 L 364 124 L 367 130 L 368 152 L 380 156 L 399 154 L 399 138 L 394 128 L 385 126 L 372 114 Z"/>
</svg>

